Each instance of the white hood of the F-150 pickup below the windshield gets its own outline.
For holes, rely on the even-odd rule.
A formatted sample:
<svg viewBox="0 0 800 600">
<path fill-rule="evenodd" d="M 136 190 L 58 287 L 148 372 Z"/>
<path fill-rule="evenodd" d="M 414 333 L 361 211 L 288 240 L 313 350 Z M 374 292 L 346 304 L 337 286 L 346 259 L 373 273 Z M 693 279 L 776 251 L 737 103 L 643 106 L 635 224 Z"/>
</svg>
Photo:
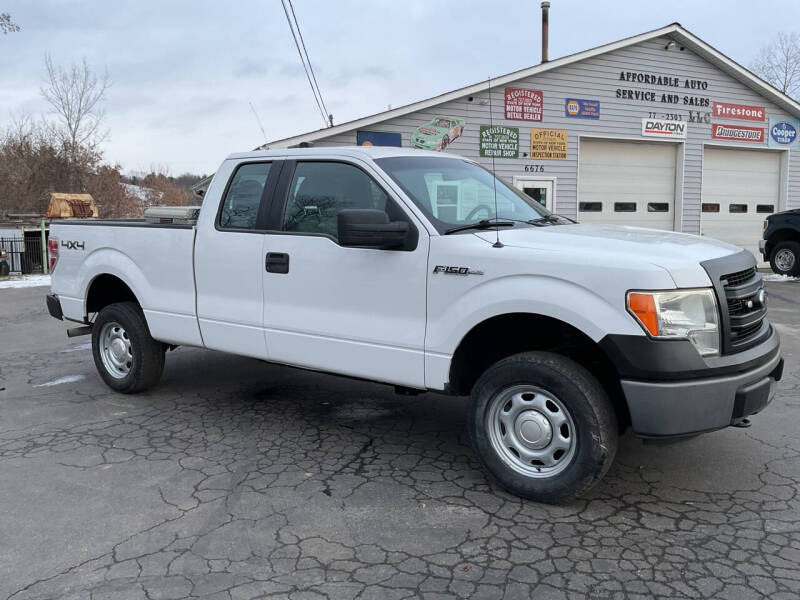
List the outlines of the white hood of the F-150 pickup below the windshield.
<svg viewBox="0 0 800 600">
<path fill-rule="evenodd" d="M 478 237 L 495 241 L 494 231 L 476 232 Z M 700 263 L 741 252 L 741 248 L 712 238 L 660 229 L 622 225 L 556 225 L 500 229 L 506 246 L 602 255 L 604 260 L 645 262 L 666 269 L 677 287 L 703 287 L 710 280 Z"/>
</svg>

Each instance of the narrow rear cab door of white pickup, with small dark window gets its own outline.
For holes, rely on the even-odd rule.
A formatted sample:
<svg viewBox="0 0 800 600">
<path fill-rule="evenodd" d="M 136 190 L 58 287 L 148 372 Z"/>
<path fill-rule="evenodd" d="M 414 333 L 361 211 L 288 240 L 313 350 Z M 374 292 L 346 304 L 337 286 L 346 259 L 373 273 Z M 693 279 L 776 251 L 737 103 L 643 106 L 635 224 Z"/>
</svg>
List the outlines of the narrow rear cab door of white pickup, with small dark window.
<svg viewBox="0 0 800 600">
<path fill-rule="evenodd" d="M 206 194 L 194 264 L 197 318 L 208 348 L 267 358 L 263 236 L 281 164 L 226 161 Z M 212 207 L 214 198 L 221 199 Z"/>
</svg>

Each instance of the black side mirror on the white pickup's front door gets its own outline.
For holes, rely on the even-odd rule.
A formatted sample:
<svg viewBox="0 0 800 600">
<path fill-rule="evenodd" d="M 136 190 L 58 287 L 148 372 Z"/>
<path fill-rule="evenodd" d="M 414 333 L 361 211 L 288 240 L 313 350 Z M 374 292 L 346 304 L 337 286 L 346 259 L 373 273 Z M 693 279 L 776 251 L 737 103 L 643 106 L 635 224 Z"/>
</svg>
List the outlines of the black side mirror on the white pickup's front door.
<svg viewBox="0 0 800 600">
<path fill-rule="evenodd" d="M 408 223 L 390 221 L 382 210 L 348 208 L 338 218 L 340 246 L 392 250 L 402 248 L 408 237 Z"/>
</svg>

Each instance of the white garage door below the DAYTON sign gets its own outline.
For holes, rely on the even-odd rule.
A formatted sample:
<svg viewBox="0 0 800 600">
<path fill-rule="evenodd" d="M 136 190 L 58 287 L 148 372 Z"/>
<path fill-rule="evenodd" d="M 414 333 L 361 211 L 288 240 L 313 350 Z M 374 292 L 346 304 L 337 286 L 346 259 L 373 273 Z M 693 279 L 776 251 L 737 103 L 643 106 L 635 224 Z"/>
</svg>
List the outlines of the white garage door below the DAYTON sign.
<svg viewBox="0 0 800 600">
<path fill-rule="evenodd" d="M 675 226 L 677 145 L 581 139 L 578 221 Z"/>
</svg>

